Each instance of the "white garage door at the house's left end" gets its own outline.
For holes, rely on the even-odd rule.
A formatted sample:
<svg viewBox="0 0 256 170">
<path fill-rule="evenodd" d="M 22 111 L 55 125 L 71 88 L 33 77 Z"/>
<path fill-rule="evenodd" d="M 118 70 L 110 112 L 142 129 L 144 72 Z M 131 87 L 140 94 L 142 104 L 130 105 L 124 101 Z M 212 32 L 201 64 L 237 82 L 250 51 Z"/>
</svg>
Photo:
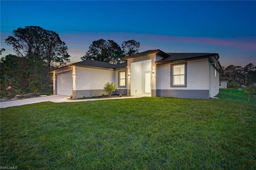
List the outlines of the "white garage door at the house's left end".
<svg viewBox="0 0 256 170">
<path fill-rule="evenodd" d="M 68 96 L 72 94 L 71 71 L 57 75 L 57 94 Z"/>
</svg>

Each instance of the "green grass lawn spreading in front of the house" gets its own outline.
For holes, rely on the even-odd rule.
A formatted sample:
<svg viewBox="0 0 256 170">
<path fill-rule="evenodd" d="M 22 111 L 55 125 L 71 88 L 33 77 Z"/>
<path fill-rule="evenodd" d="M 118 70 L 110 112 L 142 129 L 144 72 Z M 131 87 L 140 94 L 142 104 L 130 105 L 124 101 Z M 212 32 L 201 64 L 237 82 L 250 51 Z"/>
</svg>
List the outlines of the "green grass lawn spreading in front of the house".
<svg viewBox="0 0 256 170">
<path fill-rule="evenodd" d="M 139 98 L 1 109 L 1 165 L 18 169 L 255 169 L 256 104 Z"/>
</svg>

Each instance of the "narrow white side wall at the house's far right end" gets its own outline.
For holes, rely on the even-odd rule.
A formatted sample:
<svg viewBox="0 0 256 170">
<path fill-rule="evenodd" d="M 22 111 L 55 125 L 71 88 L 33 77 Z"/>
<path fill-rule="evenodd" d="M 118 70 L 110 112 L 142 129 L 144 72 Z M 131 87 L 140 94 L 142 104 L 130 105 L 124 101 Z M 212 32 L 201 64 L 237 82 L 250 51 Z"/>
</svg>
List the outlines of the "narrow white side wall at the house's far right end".
<svg viewBox="0 0 256 170">
<path fill-rule="evenodd" d="M 220 77 L 220 74 L 217 70 L 216 70 L 216 76 L 215 76 L 215 68 L 211 64 L 210 65 L 210 92 L 209 92 L 210 98 L 213 98 L 215 95 L 219 93 L 219 77 Z"/>
</svg>

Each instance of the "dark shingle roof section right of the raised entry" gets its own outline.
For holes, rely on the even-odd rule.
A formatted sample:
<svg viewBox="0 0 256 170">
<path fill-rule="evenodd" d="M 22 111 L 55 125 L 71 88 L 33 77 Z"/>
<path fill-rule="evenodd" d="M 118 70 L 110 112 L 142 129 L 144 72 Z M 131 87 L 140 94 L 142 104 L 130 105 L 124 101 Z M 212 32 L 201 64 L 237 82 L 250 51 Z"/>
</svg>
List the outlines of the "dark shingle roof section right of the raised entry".
<svg viewBox="0 0 256 170">
<path fill-rule="evenodd" d="M 170 56 L 167 56 L 166 58 L 163 58 L 162 60 L 156 61 L 156 63 L 204 58 L 204 57 L 208 57 L 208 56 L 218 55 L 218 53 L 167 53 L 167 54 L 169 54 Z"/>
</svg>

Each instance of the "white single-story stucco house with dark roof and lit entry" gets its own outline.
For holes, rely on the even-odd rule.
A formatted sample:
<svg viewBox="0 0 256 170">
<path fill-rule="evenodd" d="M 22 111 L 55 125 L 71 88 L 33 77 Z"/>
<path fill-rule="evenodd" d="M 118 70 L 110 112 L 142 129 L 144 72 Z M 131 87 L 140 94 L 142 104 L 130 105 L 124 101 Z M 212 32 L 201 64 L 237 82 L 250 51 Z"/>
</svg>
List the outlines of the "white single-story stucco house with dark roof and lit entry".
<svg viewBox="0 0 256 170">
<path fill-rule="evenodd" d="M 110 64 L 86 60 L 53 72 L 53 93 L 102 95 L 107 82 L 118 85 L 116 94 L 209 99 L 219 93 L 222 72 L 218 53 L 165 53 L 148 50 Z"/>
</svg>

